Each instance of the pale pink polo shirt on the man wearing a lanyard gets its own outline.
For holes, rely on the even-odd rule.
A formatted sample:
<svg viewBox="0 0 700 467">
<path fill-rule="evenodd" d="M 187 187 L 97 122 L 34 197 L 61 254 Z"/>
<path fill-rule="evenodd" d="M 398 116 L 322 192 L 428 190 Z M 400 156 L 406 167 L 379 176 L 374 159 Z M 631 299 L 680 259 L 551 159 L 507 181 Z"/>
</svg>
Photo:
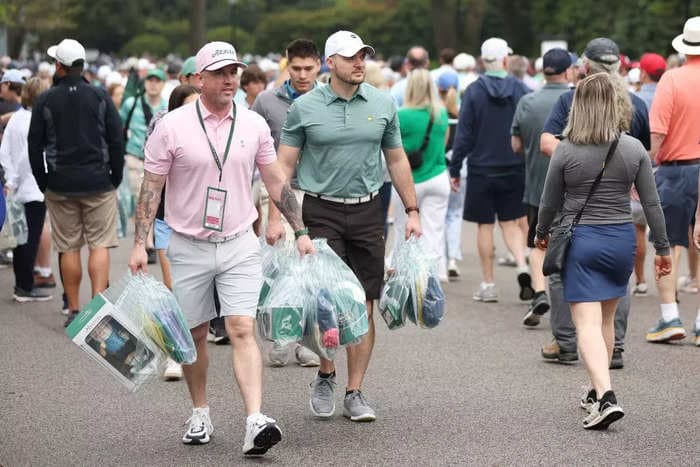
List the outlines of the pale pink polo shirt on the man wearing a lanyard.
<svg viewBox="0 0 700 467">
<path fill-rule="evenodd" d="M 219 120 L 199 100 L 207 135 L 220 160 L 231 128 L 232 112 Z M 144 168 L 151 173 L 167 175 L 165 185 L 165 221 L 175 231 L 200 239 L 210 235 L 229 236 L 249 227 L 258 214 L 253 205 L 251 184 L 253 169 L 277 159 L 270 127 L 255 112 L 236 107 L 228 159 L 223 166 L 221 184 L 219 169 L 197 118 L 195 104 L 169 112 L 158 122 L 144 150 Z M 202 227 L 207 187 L 228 192 L 223 231 Z"/>
</svg>

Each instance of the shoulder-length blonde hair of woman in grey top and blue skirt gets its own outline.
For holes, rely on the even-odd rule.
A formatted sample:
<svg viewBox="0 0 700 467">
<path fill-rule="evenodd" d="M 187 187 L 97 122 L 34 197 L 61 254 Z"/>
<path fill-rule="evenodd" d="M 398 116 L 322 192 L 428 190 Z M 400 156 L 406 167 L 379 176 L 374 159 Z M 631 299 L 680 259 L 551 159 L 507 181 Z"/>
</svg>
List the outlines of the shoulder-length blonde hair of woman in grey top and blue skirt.
<svg viewBox="0 0 700 467">
<path fill-rule="evenodd" d="M 595 73 L 578 83 L 563 135 L 574 144 L 605 144 L 629 128 L 614 76 Z M 625 97 L 629 101 L 627 90 Z"/>
</svg>

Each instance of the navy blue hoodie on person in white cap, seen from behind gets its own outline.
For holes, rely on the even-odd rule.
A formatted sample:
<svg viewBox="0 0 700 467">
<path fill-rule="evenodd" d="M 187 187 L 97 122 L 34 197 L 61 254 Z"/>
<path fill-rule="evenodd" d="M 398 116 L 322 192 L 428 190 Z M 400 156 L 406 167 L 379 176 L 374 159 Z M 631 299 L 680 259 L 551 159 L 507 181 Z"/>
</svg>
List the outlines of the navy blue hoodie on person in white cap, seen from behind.
<svg viewBox="0 0 700 467">
<path fill-rule="evenodd" d="M 450 161 L 451 177 L 459 177 L 465 157 L 471 174 L 523 167 L 523 158 L 510 146 L 510 126 L 518 101 L 528 92 L 530 90 L 512 76 L 483 75 L 467 88 Z"/>
</svg>

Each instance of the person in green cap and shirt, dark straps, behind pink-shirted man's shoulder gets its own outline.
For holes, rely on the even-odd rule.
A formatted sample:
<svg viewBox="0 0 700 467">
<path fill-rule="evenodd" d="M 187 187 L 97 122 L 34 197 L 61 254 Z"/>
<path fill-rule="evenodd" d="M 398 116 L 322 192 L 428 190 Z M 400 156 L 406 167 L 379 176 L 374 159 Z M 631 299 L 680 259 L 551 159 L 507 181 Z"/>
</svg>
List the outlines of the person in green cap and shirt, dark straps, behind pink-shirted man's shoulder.
<svg viewBox="0 0 700 467">
<path fill-rule="evenodd" d="M 134 199 L 139 197 L 143 180 L 143 146 L 146 142 L 146 129 L 155 114 L 168 109 L 168 102 L 161 97 L 165 79 L 165 72 L 160 68 L 150 70 L 144 81 L 144 93 L 125 100 L 119 110 L 127 138 L 124 163 L 128 170 L 129 186 Z M 148 236 L 147 250 L 148 264 L 155 263 L 153 233 Z"/>
</svg>

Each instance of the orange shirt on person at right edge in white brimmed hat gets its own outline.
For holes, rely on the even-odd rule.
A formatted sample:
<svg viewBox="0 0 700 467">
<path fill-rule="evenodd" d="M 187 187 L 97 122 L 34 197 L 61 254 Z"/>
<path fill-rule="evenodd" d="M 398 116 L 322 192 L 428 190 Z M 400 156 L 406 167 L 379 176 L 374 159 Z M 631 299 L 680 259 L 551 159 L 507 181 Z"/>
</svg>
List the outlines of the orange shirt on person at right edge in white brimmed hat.
<svg viewBox="0 0 700 467">
<path fill-rule="evenodd" d="M 700 55 L 661 77 L 649 113 L 652 133 L 666 135 L 656 162 L 700 158 Z"/>
</svg>

